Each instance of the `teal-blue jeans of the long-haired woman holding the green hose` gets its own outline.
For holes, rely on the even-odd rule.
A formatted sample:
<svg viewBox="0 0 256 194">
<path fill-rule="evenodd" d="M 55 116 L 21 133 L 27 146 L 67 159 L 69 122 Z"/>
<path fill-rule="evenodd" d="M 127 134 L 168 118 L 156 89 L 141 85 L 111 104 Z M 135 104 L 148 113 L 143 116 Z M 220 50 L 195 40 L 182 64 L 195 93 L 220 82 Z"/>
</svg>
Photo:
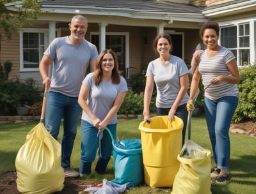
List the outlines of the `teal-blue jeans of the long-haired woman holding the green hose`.
<svg viewBox="0 0 256 194">
<path fill-rule="evenodd" d="M 109 124 L 107 127 L 111 131 L 113 138 L 116 138 L 117 124 Z M 97 137 L 99 130 L 87 121 L 81 121 L 81 162 L 79 172 L 81 174 L 90 174 L 93 160 L 95 160 L 99 148 L 99 157 L 104 161 L 109 161 L 113 150 L 112 139 L 107 130 L 103 131 L 103 137 L 100 141 Z"/>
</svg>

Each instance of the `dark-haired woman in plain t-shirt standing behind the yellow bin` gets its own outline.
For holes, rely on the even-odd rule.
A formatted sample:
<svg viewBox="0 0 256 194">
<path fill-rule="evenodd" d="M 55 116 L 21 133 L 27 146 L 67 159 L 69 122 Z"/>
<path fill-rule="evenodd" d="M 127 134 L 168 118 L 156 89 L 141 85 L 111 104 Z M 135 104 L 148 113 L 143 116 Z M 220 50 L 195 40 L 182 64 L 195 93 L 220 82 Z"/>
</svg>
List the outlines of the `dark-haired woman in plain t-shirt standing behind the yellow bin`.
<svg viewBox="0 0 256 194">
<path fill-rule="evenodd" d="M 182 130 L 182 145 L 186 135 L 188 110 L 186 102 L 189 100 L 189 70 L 185 62 L 172 55 L 172 38 L 163 33 L 156 36 L 154 49 L 159 57 L 148 64 L 146 73 L 146 86 L 144 93 L 143 116 L 145 121 L 150 121 L 149 104 L 156 84 L 156 112 L 157 116 L 168 116 L 172 121 L 173 116 L 180 117 L 184 126 Z"/>
</svg>

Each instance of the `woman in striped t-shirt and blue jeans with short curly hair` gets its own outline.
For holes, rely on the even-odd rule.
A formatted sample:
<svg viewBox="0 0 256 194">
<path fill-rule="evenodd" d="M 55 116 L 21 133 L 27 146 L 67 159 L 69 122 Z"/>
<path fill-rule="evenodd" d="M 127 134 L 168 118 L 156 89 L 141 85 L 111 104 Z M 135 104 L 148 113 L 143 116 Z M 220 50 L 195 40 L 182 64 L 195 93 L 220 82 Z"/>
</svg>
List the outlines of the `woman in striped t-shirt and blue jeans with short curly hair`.
<svg viewBox="0 0 256 194">
<path fill-rule="evenodd" d="M 218 45 L 219 33 L 220 26 L 216 22 L 205 22 L 201 26 L 200 37 L 207 49 L 202 52 L 193 73 L 188 111 L 194 108 L 191 100 L 202 77 L 205 117 L 216 163 L 211 169 L 211 177 L 216 184 L 227 184 L 230 160 L 228 131 L 238 103 L 237 84 L 240 78 L 236 57 L 228 48 Z"/>
</svg>

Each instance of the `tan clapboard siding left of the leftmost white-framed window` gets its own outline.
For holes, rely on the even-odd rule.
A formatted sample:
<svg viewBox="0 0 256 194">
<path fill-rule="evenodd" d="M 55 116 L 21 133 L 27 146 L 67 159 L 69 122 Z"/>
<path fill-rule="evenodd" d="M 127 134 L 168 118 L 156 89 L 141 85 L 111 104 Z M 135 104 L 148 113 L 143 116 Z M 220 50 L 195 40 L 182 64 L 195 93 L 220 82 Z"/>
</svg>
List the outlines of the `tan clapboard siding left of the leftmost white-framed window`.
<svg viewBox="0 0 256 194">
<path fill-rule="evenodd" d="M 15 78 L 19 75 L 20 70 L 20 46 L 19 46 L 19 33 L 12 33 L 12 40 L 2 40 L 1 41 L 1 52 L 0 59 L 1 64 L 4 61 L 12 62 L 12 71 L 10 72 L 9 78 Z"/>
</svg>

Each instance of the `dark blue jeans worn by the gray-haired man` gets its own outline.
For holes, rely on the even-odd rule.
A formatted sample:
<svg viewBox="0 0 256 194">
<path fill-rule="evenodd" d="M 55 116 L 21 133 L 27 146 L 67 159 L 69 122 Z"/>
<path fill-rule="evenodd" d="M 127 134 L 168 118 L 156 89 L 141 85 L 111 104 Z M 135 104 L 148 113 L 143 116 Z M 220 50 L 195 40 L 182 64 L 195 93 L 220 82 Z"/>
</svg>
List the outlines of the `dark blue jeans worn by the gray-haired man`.
<svg viewBox="0 0 256 194">
<path fill-rule="evenodd" d="M 70 167 L 70 157 L 76 138 L 77 124 L 81 107 L 77 97 L 65 96 L 49 91 L 45 108 L 45 128 L 56 140 L 63 117 L 63 136 L 61 140 L 61 167 Z"/>
</svg>

